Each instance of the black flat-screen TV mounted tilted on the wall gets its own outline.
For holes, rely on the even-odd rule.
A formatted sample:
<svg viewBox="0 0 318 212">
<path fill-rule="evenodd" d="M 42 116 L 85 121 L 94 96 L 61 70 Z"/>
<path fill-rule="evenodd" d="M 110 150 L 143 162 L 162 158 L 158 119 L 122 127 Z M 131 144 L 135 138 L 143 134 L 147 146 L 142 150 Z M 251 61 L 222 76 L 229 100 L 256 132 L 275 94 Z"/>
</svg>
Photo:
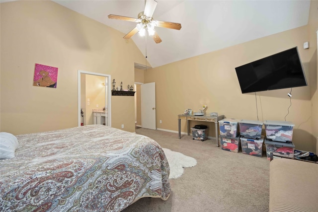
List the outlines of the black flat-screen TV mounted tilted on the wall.
<svg viewBox="0 0 318 212">
<path fill-rule="evenodd" d="M 242 93 L 307 86 L 297 47 L 235 68 Z"/>
</svg>

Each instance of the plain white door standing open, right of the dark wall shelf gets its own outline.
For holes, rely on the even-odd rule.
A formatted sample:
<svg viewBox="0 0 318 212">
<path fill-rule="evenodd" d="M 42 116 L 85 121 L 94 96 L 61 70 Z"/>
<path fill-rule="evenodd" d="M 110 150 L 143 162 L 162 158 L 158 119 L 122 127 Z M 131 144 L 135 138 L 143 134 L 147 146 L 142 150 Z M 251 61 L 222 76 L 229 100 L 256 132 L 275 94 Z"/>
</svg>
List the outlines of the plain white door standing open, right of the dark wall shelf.
<svg viewBox="0 0 318 212">
<path fill-rule="evenodd" d="M 156 130 L 155 82 L 141 85 L 141 127 Z"/>
</svg>

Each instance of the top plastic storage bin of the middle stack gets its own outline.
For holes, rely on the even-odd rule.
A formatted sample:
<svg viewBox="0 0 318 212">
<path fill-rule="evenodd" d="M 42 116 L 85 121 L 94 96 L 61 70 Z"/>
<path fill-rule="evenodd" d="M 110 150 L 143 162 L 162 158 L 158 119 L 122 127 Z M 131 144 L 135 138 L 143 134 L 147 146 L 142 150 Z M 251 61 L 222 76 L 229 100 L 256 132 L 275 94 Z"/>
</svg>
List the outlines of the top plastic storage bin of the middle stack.
<svg viewBox="0 0 318 212">
<path fill-rule="evenodd" d="M 253 120 L 239 121 L 239 134 L 248 139 L 260 139 L 262 135 L 263 122 Z"/>
</svg>

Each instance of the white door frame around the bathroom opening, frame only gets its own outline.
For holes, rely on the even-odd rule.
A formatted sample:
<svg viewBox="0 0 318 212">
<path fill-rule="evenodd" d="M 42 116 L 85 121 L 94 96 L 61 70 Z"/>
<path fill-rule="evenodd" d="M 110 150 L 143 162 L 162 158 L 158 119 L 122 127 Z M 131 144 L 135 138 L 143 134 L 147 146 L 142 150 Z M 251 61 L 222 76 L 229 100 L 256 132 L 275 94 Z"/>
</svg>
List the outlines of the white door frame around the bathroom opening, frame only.
<svg viewBox="0 0 318 212">
<path fill-rule="evenodd" d="M 105 86 L 105 105 L 107 105 L 107 112 L 105 111 L 105 115 L 107 117 L 106 118 L 106 122 L 107 122 L 106 125 L 111 127 L 111 89 L 110 89 L 111 83 L 110 83 L 110 75 L 109 74 L 103 74 L 103 73 L 94 73 L 94 72 L 78 70 L 78 123 L 79 123 L 79 127 L 80 127 L 80 122 L 81 122 L 81 120 L 80 120 L 80 74 L 81 73 L 107 77 L 107 85 L 108 86 Z M 108 87 L 108 89 L 107 89 L 107 87 Z M 107 96 L 107 98 L 106 98 L 106 96 Z"/>
</svg>

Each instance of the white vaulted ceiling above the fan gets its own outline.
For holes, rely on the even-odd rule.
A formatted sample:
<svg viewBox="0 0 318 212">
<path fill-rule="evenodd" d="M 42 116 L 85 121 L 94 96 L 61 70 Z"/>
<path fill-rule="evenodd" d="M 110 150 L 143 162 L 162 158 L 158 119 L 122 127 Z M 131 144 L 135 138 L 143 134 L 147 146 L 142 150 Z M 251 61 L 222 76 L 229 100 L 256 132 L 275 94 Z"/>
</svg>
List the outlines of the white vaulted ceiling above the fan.
<svg viewBox="0 0 318 212">
<path fill-rule="evenodd" d="M 123 36 L 135 22 L 109 19 L 109 14 L 137 18 L 145 0 L 54 0 Z M 308 23 L 310 0 L 157 0 L 155 20 L 181 23 L 180 30 L 155 27 L 162 42 L 138 33 L 131 39 L 155 68 L 272 35 Z M 147 48 L 147 51 L 146 51 Z"/>
</svg>

